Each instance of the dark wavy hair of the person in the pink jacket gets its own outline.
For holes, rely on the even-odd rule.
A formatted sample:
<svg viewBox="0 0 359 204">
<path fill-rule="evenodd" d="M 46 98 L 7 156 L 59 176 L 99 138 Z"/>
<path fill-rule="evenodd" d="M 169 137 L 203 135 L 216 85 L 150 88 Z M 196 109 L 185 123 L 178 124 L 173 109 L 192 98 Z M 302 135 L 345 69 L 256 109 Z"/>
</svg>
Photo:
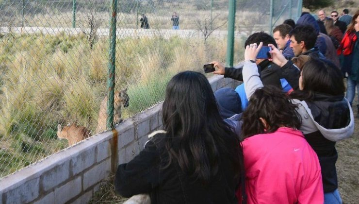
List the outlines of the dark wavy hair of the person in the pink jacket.
<svg viewBox="0 0 359 204">
<path fill-rule="evenodd" d="M 288 95 L 276 86 L 264 86 L 257 89 L 250 97 L 242 119 L 242 138 L 263 133 L 273 133 L 279 127 L 297 129 L 301 121 L 296 105 Z M 265 127 L 260 118 L 265 119 Z"/>
</svg>

